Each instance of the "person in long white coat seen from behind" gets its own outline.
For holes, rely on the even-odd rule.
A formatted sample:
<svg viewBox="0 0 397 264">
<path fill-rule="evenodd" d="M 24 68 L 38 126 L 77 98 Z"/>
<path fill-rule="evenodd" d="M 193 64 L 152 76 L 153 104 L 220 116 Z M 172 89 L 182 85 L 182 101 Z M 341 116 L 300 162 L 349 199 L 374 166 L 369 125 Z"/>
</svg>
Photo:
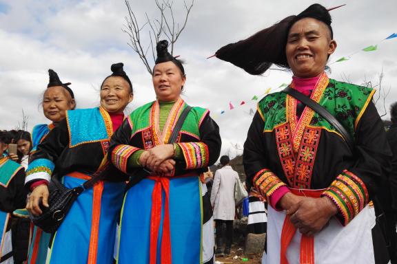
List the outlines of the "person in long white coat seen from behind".
<svg viewBox="0 0 397 264">
<path fill-rule="evenodd" d="M 238 179 L 238 173 L 229 165 L 228 156 L 221 157 L 222 168 L 216 170 L 214 183 L 212 184 L 211 204 L 214 207 L 214 219 L 216 228 L 216 251 L 222 254 L 222 246 L 225 238 L 225 255 L 230 254 L 233 239 L 234 220 L 234 184 Z M 223 224 L 226 232 L 223 232 Z"/>
</svg>

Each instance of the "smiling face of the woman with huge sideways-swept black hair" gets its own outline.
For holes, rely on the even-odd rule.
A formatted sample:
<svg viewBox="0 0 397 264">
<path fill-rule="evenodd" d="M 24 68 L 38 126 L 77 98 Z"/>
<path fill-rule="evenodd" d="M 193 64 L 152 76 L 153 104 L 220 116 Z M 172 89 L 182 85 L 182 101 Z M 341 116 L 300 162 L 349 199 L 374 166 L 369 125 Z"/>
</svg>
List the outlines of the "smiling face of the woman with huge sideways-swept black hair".
<svg viewBox="0 0 397 264">
<path fill-rule="evenodd" d="M 285 54 L 294 76 L 316 77 L 324 72 L 328 56 L 334 53 L 336 42 L 325 23 L 305 18 L 292 25 L 287 36 Z"/>
</svg>

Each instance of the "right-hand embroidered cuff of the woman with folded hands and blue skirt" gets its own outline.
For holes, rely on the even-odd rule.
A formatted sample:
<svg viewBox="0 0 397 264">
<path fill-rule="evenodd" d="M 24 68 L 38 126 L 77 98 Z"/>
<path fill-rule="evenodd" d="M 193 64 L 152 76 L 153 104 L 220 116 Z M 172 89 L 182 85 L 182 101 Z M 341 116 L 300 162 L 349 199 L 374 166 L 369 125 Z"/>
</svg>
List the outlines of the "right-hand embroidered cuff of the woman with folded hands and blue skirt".
<svg viewBox="0 0 397 264">
<path fill-rule="evenodd" d="M 178 143 L 185 157 L 186 169 L 203 168 L 208 166 L 208 146 L 203 142 Z"/>
</svg>

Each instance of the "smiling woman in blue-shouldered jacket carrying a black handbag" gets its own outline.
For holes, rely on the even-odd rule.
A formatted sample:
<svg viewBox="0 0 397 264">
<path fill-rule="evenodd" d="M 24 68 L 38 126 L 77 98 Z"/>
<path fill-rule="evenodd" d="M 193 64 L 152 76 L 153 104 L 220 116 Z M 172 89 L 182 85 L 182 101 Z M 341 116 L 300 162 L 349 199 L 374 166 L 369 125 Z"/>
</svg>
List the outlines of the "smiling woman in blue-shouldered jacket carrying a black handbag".
<svg viewBox="0 0 397 264">
<path fill-rule="evenodd" d="M 101 106 L 68 111 L 32 154 L 26 177 L 26 185 L 34 186 L 26 206 L 32 214 L 48 207 L 51 177 L 74 188 L 103 168 L 110 136 L 123 122 L 123 111 L 133 98 L 123 63 L 111 69 L 101 85 Z M 104 180 L 81 193 L 52 236 L 47 263 L 112 263 L 125 179 L 110 167 Z"/>
</svg>

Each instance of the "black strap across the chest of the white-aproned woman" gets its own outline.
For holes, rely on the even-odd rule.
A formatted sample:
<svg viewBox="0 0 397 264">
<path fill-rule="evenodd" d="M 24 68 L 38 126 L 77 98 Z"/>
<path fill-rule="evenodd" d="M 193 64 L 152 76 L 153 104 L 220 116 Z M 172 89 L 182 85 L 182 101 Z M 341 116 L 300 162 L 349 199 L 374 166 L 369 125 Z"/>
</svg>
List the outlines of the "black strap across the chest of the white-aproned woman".
<svg viewBox="0 0 397 264">
<path fill-rule="evenodd" d="M 325 120 L 329 122 L 329 124 L 332 124 L 332 126 L 335 127 L 335 129 L 340 133 L 340 135 L 343 136 L 345 139 L 345 142 L 349 146 L 349 148 L 353 151 L 354 150 L 354 141 L 352 139 L 352 136 L 347 132 L 345 127 L 340 124 L 340 122 L 327 111 L 324 107 L 322 107 L 320 104 L 317 102 L 314 102 L 311 98 L 305 96 L 304 94 L 301 94 L 299 91 L 296 91 L 296 89 L 292 89 L 291 87 L 287 87 L 283 90 L 285 94 L 289 94 L 290 96 L 300 100 L 303 102 L 303 104 L 306 104 L 307 107 L 310 107 L 314 111 L 316 111 L 319 115 L 321 115 Z"/>
</svg>

